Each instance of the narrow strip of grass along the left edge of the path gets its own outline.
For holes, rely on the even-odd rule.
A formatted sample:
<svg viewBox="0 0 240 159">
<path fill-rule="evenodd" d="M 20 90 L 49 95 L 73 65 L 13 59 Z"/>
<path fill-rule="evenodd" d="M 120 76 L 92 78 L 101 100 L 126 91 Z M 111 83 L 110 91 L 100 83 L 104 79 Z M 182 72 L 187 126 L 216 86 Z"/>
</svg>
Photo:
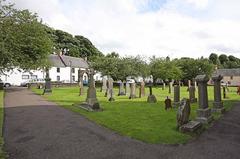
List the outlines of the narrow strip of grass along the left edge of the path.
<svg viewBox="0 0 240 159">
<path fill-rule="evenodd" d="M 4 115 L 3 95 L 4 95 L 4 92 L 0 90 L 0 159 L 5 158 L 5 153 L 3 151 L 3 137 L 2 137 L 3 115 Z"/>
</svg>

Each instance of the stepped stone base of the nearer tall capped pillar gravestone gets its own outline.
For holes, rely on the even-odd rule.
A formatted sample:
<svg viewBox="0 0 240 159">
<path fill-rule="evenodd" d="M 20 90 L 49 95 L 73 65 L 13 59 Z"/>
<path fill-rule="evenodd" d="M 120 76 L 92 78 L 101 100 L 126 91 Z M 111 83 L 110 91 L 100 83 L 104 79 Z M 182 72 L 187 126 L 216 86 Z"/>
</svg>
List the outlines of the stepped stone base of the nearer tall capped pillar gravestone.
<svg viewBox="0 0 240 159">
<path fill-rule="evenodd" d="M 210 123 L 213 121 L 213 116 L 211 115 L 211 109 L 198 109 L 197 110 L 197 117 L 196 121 L 199 121 L 201 123 Z"/>
</svg>

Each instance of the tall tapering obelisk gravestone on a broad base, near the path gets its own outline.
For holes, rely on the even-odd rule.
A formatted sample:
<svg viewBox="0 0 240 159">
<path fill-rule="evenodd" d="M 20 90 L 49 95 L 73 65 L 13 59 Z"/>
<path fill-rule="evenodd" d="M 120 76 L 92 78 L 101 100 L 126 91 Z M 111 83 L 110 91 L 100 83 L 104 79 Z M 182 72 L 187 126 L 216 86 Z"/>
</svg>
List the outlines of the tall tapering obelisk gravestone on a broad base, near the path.
<svg viewBox="0 0 240 159">
<path fill-rule="evenodd" d="M 86 98 L 86 102 L 77 105 L 82 109 L 85 109 L 87 111 L 99 111 L 100 110 L 100 105 L 99 102 L 97 100 L 97 95 L 96 95 L 96 88 L 95 88 L 95 81 L 93 78 L 94 75 L 94 70 L 91 69 L 89 72 L 90 75 L 90 83 L 89 83 L 89 87 L 87 90 L 87 98 Z"/>
</svg>

